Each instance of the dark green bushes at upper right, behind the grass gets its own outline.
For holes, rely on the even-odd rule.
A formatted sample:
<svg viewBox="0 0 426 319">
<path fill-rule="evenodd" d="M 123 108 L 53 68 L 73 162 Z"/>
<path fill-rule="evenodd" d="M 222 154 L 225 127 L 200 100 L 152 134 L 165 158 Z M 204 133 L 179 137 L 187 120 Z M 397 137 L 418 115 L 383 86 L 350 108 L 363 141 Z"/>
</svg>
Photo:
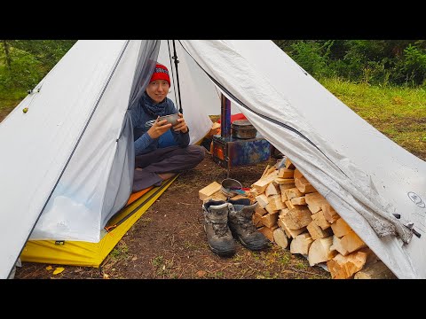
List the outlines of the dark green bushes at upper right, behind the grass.
<svg viewBox="0 0 426 319">
<path fill-rule="evenodd" d="M 313 77 L 373 85 L 426 85 L 425 40 L 274 40 Z"/>
</svg>

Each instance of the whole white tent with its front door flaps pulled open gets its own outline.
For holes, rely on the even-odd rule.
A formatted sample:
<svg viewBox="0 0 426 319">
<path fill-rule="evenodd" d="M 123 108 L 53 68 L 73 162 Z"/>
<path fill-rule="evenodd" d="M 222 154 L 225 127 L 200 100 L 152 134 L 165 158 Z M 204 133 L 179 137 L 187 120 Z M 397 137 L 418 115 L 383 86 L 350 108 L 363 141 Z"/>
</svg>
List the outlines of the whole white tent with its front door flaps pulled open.
<svg viewBox="0 0 426 319">
<path fill-rule="evenodd" d="M 177 101 L 170 43 L 79 41 L 0 123 L 1 277 L 28 238 L 102 237 L 130 195 L 127 110 L 154 60 L 172 71 Z M 220 113 L 225 94 L 233 113 L 286 154 L 396 276 L 426 278 L 422 159 L 359 118 L 272 41 L 175 43 L 192 143 L 209 131 L 208 115 Z"/>
</svg>

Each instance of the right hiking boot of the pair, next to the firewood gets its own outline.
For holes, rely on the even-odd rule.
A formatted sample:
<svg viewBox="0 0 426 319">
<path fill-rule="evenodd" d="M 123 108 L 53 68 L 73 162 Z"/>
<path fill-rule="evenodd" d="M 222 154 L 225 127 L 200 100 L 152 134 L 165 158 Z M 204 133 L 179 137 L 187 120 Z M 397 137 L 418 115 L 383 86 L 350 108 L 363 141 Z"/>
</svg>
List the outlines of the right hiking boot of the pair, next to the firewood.
<svg viewBox="0 0 426 319">
<path fill-rule="evenodd" d="M 252 221 L 257 203 L 250 205 L 250 199 L 228 199 L 232 204 L 229 208 L 228 224 L 234 237 L 237 237 L 241 244 L 252 251 L 261 251 L 269 247 L 269 240 L 264 234 L 256 230 Z"/>
</svg>

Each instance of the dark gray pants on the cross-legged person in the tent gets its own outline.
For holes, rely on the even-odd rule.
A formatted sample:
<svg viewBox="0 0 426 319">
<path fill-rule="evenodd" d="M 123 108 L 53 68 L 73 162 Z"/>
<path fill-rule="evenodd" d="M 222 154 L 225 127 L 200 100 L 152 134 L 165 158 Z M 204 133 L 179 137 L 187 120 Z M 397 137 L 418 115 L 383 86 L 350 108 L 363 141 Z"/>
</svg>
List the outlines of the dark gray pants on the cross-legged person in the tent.
<svg viewBox="0 0 426 319">
<path fill-rule="evenodd" d="M 132 191 L 145 190 L 152 185 L 160 186 L 162 178 L 157 175 L 158 173 L 181 173 L 196 167 L 204 156 L 204 147 L 199 145 L 169 146 L 138 155 L 135 158 Z M 142 170 L 136 168 L 142 168 Z"/>
</svg>

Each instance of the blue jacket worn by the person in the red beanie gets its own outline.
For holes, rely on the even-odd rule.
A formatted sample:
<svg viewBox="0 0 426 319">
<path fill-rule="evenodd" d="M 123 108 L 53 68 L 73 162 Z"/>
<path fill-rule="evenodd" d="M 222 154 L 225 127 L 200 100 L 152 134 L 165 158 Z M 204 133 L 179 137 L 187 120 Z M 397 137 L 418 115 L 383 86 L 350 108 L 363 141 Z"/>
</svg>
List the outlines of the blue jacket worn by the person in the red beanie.
<svg viewBox="0 0 426 319">
<path fill-rule="evenodd" d="M 169 97 L 166 97 L 166 100 L 167 104 L 162 115 L 177 113 L 173 101 Z M 189 145 L 189 129 L 186 133 L 181 133 L 175 132 L 170 128 L 162 136 L 155 139 L 151 138 L 151 136 L 146 133 L 149 127 L 147 128 L 145 123 L 155 120 L 157 117 L 147 114 L 140 103 L 141 100 L 139 100 L 138 105 L 130 109 L 130 118 L 133 125 L 133 137 L 135 141 L 135 155 L 146 154 L 147 152 L 153 152 L 158 148 L 170 145 L 178 145 L 180 147 Z"/>
</svg>

